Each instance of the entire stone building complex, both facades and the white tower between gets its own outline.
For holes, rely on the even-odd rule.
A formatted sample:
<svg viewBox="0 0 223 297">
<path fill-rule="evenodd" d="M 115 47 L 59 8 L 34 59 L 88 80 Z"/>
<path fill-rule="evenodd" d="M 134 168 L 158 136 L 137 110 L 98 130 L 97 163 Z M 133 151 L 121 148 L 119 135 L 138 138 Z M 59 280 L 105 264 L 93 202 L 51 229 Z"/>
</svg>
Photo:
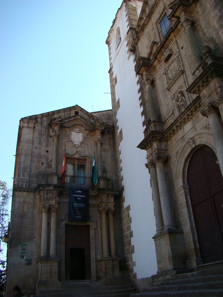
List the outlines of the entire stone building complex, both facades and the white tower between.
<svg viewBox="0 0 223 297">
<path fill-rule="evenodd" d="M 106 40 L 112 110 L 21 119 L 7 297 L 78 279 L 75 255 L 81 279 L 139 289 L 152 274 L 222 267 L 222 11 L 219 0 L 124 0 Z M 89 189 L 89 222 L 68 221 L 69 187 Z"/>
</svg>

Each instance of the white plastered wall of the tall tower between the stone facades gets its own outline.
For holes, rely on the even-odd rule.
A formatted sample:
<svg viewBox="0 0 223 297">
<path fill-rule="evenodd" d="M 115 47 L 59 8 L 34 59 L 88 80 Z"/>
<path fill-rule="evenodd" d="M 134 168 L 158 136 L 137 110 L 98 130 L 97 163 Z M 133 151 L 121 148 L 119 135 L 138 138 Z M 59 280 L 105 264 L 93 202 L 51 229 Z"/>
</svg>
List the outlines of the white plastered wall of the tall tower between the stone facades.
<svg viewBox="0 0 223 297">
<path fill-rule="evenodd" d="M 136 1 L 137 3 L 137 1 Z M 138 2 L 138 11 L 142 2 Z M 133 261 L 136 262 L 134 272 L 137 279 L 150 277 L 156 274 L 156 250 L 152 239 L 156 233 L 155 216 L 153 209 L 152 190 L 150 187 L 150 175 L 145 167 L 146 151 L 137 148 L 143 140 L 143 126 L 141 117 L 142 108 L 139 105 L 137 78 L 134 71 L 134 56 L 128 60 L 125 34 L 128 28 L 123 4 L 117 13 L 114 31 L 111 37 L 111 56 L 114 78 L 117 75 L 115 86 L 116 100 L 120 100 L 120 108 L 117 111 L 119 131 L 122 129 L 123 140 L 120 143 L 120 159 L 122 160 L 122 175 L 125 196 L 124 207 L 130 204 L 130 216 L 132 218 L 131 230 L 134 245 Z M 121 42 L 116 49 L 115 33 L 120 27 Z"/>
</svg>

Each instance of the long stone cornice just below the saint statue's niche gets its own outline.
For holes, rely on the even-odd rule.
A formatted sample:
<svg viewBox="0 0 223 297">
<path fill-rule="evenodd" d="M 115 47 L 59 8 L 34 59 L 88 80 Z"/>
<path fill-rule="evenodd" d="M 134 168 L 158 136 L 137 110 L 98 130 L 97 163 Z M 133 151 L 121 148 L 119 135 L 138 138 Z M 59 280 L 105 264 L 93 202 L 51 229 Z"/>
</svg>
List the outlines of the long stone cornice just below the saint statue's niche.
<svg viewBox="0 0 223 297">
<path fill-rule="evenodd" d="M 175 119 L 175 121 L 167 127 L 163 132 L 150 130 L 150 126 L 154 126 L 154 121 L 145 129 L 145 138 L 139 143 L 137 148 L 147 150 L 155 141 L 167 142 L 175 133 L 181 129 L 187 122 L 191 120 L 191 117 L 200 110 L 201 98 L 197 96 L 193 102 Z M 159 123 L 159 126 L 162 123 Z M 156 125 L 154 126 L 156 129 Z"/>
</svg>

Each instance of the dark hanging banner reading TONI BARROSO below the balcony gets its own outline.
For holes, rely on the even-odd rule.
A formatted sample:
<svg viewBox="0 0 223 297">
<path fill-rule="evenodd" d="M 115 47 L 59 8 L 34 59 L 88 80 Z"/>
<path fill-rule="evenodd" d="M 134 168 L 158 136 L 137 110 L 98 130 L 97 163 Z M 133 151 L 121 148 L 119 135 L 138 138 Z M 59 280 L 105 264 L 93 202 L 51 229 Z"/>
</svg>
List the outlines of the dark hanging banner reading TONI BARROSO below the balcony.
<svg viewBox="0 0 223 297">
<path fill-rule="evenodd" d="M 69 222 L 89 222 L 89 189 L 69 189 Z"/>
</svg>

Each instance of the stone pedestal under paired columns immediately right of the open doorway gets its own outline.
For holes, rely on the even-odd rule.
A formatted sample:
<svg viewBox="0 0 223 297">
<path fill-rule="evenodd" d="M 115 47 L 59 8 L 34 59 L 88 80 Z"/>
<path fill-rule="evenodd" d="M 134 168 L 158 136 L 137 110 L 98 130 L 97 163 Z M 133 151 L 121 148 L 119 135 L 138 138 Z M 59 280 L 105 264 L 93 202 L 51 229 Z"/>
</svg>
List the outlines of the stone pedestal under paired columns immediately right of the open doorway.
<svg viewBox="0 0 223 297">
<path fill-rule="evenodd" d="M 119 260 L 118 257 L 101 257 L 98 260 L 99 279 L 117 279 L 119 274 Z"/>
</svg>

